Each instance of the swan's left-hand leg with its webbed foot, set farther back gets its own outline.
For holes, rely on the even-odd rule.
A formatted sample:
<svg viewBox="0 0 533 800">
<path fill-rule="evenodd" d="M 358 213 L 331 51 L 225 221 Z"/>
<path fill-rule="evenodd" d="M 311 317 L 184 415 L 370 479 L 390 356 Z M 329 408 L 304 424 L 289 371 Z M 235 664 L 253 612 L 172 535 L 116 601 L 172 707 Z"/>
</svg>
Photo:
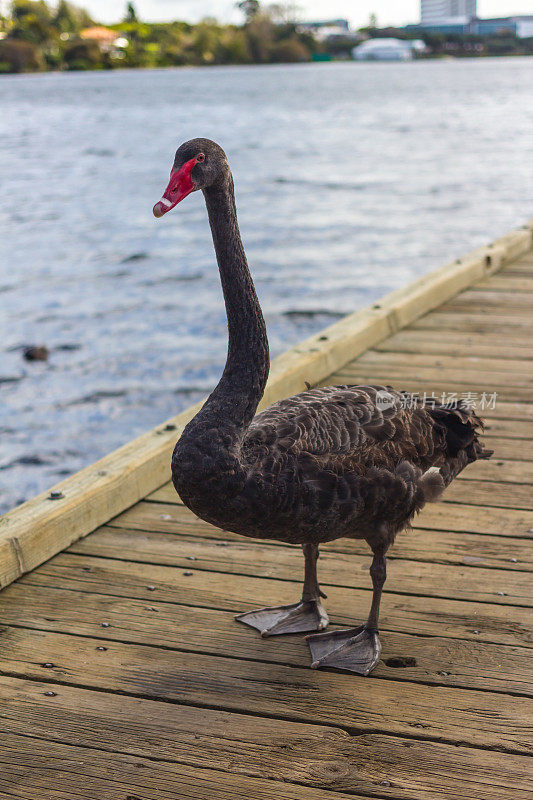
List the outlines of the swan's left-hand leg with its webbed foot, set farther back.
<svg viewBox="0 0 533 800">
<path fill-rule="evenodd" d="M 305 556 L 305 577 L 301 601 L 289 606 L 269 606 L 246 611 L 244 614 L 238 614 L 236 620 L 257 628 L 261 636 L 324 630 L 329 620 L 320 602 L 320 598 L 326 595 L 320 591 L 316 574 L 318 545 L 304 544 L 302 547 Z"/>
</svg>

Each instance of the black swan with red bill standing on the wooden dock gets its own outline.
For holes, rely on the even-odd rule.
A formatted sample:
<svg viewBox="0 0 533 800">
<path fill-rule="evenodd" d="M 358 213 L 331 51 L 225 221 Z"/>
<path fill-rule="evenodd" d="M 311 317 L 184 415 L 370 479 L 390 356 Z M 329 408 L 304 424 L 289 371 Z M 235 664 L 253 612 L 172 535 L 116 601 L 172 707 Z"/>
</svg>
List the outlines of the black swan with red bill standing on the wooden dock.
<svg viewBox="0 0 533 800">
<path fill-rule="evenodd" d="M 365 539 L 374 558 L 365 624 L 308 636 L 313 667 L 368 675 L 379 660 L 378 617 L 385 554 L 413 515 L 469 463 L 489 458 L 482 421 L 460 402 L 424 404 L 385 386 L 328 386 L 281 400 L 255 415 L 269 372 L 265 323 L 237 224 L 233 178 L 209 139 L 178 149 L 161 217 L 201 189 L 209 215 L 228 317 L 224 373 L 186 426 L 172 456 L 172 479 L 202 519 L 243 536 L 301 544 L 302 599 L 237 616 L 264 636 L 323 630 L 318 546 Z"/>
</svg>

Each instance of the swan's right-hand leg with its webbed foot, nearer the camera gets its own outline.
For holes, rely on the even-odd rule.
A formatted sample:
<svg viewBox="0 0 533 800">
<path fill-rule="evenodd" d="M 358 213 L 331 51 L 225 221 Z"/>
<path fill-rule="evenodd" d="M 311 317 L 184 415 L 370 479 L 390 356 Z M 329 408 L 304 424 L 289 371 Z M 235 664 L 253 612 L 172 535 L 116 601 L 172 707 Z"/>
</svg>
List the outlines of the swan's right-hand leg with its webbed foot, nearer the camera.
<svg viewBox="0 0 533 800">
<path fill-rule="evenodd" d="M 378 663 L 381 654 L 378 637 L 379 604 L 387 577 L 385 552 L 384 549 L 374 551 L 370 567 L 374 591 L 366 623 L 358 628 L 306 637 L 313 658 L 313 669 L 330 667 L 368 675 Z"/>
</svg>

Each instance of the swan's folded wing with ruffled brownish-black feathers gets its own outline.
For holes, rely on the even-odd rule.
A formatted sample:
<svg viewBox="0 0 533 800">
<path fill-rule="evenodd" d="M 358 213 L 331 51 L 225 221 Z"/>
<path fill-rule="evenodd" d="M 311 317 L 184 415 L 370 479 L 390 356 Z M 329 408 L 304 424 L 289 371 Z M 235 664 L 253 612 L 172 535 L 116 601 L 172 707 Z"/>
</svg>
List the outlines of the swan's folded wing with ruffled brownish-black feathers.
<svg viewBox="0 0 533 800">
<path fill-rule="evenodd" d="M 445 437 L 416 398 L 386 386 L 328 386 L 258 414 L 244 441 L 250 461 L 313 457 L 322 469 L 365 472 L 442 460 Z"/>
</svg>

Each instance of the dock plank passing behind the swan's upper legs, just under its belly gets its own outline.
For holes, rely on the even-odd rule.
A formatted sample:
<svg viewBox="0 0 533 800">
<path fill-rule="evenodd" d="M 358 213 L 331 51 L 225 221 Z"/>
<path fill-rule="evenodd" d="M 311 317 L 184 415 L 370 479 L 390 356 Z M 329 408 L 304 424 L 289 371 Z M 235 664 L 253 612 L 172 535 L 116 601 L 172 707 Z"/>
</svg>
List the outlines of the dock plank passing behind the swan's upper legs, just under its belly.
<svg viewBox="0 0 533 800">
<path fill-rule="evenodd" d="M 203 524 L 207 525 L 207 523 Z M 144 531 L 104 526 L 88 539 L 75 542 L 66 552 L 97 556 L 98 558 L 180 566 L 184 569 L 194 567 L 194 569 L 216 569 L 229 572 L 240 569 L 241 557 L 246 563 L 253 564 L 254 558 L 260 556 L 257 549 L 259 544 L 261 556 L 267 558 L 273 565 L 274 572 L 269 570 L 269 577 L 278 577 L 275 574 L 277 550 L 279 549 L 277 544 L 243 537 L 232 539 L 232 541 L 235 542 L 235 545 L 232 545 L 226 553 L 225 548 L 220 547 L 220 541 L 212 538 L 200 536 L 193 539 L 192 537 L 182 537 L 177 532 L 145 533 Z M 298 548 L 291 545 L 283 545 L 283 547 L 290 553 L 299 554 Z M 337 539 L 321 545 L 320 552 L 331 555 L 334 553 L 357 555 L 363 557 L 365 563 L 369 558 L 368 545 L 358 539 Z M 518 570 L 519 572 L 529 572 L 533 568 L 533 548 L 531 541 L 527 539 L 480 536 L 473 533 L 465 536 L 463 533 L 447 531 L 439 531 L 436 534 L 435 531 L 424 529 L 413 529 L 400 534 L 389 551 L 389 558 L 490 567 L 499 570 Z M 191 564 L 191 561 L 194 563 Z M 228 566 L 228 561 L 231 561 L 231 566 Z M 296 556 L 296 565 L 297 563 Z M 359 565 L 356 569 L 359 569 Z M 249 572 L 248 568 L 246 573 L 241 574 Z M 261 573 L 256 574 L 260 575 Z"/>
</svg>

